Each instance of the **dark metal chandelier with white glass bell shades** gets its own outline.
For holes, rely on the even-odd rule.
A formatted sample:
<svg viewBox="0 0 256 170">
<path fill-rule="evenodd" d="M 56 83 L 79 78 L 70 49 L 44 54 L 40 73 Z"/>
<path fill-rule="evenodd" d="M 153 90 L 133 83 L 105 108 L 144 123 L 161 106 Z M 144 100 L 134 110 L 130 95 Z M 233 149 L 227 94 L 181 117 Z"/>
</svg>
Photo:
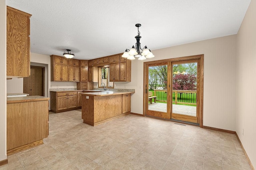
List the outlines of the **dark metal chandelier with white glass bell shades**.
<svg viewBox="0 0 256 170">
<path fill-rule="evenodd" d="M 133 45 L 130 50 L 126 49 L 124 54 L 122 55 L 122 57 L 127 58 L 129 60 L 135 60 L 135 57 L 139 57 L 138 60 L 146 60 L 148 58 L 155 57 L 146 45 L 145 45 L 145 47 L 143 47 L 143 49 L 140 47 L 141 36 L 140 36 L 139 27 L 141 26 L 141 24 L 137 23 L 137 24 L 135 24 L 135 26 L 138 27 L 138 35 L 136 35 L 136 37 L 135 37 L 136 41 L 137 41 L 135 44 L 136 47 L 134 47 L 134 45 Z M 140 52 L 140 50 L 142 50 L 142 52 Z"/>
</svg>

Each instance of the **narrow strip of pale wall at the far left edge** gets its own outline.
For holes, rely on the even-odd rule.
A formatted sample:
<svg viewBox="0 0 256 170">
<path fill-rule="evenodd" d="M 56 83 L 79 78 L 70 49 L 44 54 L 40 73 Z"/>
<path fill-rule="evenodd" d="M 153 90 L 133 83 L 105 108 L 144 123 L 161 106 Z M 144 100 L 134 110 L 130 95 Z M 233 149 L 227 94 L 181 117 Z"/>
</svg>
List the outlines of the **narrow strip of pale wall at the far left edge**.
<svg viewBox="0 0 256 170">
<path fill-rule="evenodd" d="M 0 161 L 6 156 L 6 0 L 0 0 Z"/>
</svg>

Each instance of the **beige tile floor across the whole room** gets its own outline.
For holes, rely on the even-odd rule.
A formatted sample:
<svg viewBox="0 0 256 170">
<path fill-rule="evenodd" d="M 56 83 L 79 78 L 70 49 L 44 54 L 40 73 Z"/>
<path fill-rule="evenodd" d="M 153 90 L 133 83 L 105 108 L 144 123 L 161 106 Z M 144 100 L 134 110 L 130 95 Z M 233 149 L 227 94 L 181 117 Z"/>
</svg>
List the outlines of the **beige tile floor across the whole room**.
<svg viewBox="0 0 256 170">
<path fill-rule="evenodd" d="M 81 110 L 49 115 L 44 145 L 0 170 L 250 170 L 235 135 L 127 115 L 92 127 Z"/>
</svg>

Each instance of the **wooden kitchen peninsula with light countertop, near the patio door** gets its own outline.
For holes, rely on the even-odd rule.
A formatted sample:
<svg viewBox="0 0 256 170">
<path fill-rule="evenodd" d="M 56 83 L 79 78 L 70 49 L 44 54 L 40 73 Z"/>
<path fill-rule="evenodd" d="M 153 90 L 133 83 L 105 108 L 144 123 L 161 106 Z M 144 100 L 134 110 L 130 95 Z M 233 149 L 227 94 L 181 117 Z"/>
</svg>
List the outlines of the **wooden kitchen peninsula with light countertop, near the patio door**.
<svg viewBox="0 0 256 170">
<path fill-rule="evenodd" d="M 96 126 L 130 114 L 133 93 L 121 91 L 81 93 L 83 122 Z"/>
</svg>

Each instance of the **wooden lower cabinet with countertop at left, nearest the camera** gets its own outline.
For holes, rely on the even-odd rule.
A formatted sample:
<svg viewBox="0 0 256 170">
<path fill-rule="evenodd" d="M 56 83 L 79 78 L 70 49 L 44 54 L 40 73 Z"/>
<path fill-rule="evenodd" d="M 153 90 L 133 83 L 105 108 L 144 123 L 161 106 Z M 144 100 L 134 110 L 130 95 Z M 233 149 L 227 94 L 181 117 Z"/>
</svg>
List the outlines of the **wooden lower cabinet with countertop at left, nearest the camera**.
<svg viewBox="0 0 256 170">
<path fill-rule="evenodd" d="M 43 144 L 48 137 L 48 100 L 42 96 L 7 98 L 7 156 Z"/>
</svg>

